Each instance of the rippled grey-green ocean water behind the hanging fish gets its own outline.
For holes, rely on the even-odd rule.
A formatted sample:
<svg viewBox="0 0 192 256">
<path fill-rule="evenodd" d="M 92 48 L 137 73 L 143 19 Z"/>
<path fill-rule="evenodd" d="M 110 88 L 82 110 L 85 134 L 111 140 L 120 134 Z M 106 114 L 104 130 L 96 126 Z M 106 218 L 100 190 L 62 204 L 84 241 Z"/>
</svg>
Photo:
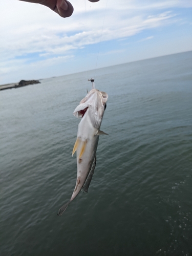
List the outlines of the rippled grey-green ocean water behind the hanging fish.
<svg viewBox="0 0 192 256">
<path fill-rule="evenodd" d="M 192 255 L 192 52 L 96 71 L 109 136 L 88 194 L 57 216 L 94 72 L 0 92 L 0 255 Z"/>
</svg>

